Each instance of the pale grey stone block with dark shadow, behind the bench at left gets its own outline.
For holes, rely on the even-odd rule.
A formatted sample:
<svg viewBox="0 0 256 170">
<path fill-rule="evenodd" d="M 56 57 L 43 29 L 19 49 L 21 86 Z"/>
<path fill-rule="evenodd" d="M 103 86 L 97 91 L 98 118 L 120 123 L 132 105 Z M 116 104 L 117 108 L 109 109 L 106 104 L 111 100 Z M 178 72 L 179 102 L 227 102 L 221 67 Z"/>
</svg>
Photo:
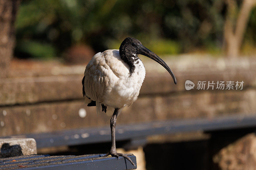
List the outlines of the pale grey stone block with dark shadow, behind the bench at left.
<svg viewBox="0 0 256 170">
<path fill-rule="evenodd" d="M 0 158 L 36 154 L 36 141 L 33 138 L 0 139 Z"/>
</svg>

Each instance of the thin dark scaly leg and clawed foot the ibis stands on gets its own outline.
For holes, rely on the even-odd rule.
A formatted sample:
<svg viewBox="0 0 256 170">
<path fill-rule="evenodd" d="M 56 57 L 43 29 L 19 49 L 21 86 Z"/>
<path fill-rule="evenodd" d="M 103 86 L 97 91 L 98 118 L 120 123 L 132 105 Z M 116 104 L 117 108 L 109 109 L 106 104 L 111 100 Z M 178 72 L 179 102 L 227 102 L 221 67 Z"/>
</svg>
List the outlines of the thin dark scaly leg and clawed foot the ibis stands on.
<svg viewBox="0 0 256 170">
<path fill-rule="evenodd" d="M 132 165 L 135 166 L 135 164 L 132 162 L 131 158 L 128 157 L 130 155 L 133 155 L 132 153 L 125 154 L 125 153 L 117 153 L 116 152 L 116 117 L 118 115 L 118 111 L 119 111 L 119 108 L 116 108 L 111 119 L 110 119 L 112 145 L 111 145 L 110 152 L 108 152 L 106 155 L 104 155 L 104 157 L 106 157 L 108 155 L 111 155 L 112 157 L 117 157 L 117 158 L 119 156 L 122 156 L 122 157 L 128 159 L 132 163 Z"/>
</svg>

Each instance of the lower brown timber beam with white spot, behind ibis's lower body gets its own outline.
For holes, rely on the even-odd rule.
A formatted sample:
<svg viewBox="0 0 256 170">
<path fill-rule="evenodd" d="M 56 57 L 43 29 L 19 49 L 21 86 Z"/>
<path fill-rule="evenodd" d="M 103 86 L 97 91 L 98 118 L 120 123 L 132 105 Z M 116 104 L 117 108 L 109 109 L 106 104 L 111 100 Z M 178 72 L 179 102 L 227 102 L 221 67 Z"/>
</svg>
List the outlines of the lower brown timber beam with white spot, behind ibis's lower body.
<svg viewBox="0 0 256 170">
<path fill-rule="evenodd" d="M 256 113 L 255 102 L 254 89 L 144 96 L 124 108 L 118 116 L 117 124 L 177 118 L 214 118 L 238 113 L 252 115 Z M 82 114 L 79 115 L 80 109 Z M 110 117 L 105 114 L 97 117 L 96 108 L 87 107 L 83 100 L 1 107 L 0 136 L 109 126 L 109 120 Z"/>
</svg>

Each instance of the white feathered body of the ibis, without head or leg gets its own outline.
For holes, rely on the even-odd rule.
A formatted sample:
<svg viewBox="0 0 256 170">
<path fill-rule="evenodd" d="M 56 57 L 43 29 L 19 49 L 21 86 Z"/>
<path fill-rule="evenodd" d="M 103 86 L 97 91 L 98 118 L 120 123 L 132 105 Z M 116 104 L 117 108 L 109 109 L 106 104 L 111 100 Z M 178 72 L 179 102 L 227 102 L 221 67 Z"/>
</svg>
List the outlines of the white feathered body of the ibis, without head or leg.
<svg viewBox="0 0 256 170">
<path fill-rule="evenodd" d="M 142 61 L 138 61 L 130 75 L 130 67 L 120 58 L 119 50 L 106 50 L 92 57 L 84 71 L 84 90 L 87 97 L 96 101 L 97 114 L 102 110 L 101 103 L 112 115 L 114 108 L 120 108 L 120 113 L 137 99 L 146 74 Z M 90 103 L 87 97 L 85 103 Z"/>
</svg>

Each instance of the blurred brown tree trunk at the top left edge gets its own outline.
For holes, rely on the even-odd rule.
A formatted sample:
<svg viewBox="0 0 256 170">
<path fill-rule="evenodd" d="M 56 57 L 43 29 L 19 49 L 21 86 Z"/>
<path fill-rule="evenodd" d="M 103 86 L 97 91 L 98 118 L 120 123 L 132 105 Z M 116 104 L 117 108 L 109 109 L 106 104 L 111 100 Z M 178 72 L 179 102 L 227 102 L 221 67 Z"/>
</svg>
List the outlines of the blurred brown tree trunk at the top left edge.
<svg viewBox="0 0 256 170">
<path fill-rule="evenodd" d="M 0 0 L 0 78 L 6 77 L 15 44 L 14 21 L 20 0 Z"/>
</svg>

